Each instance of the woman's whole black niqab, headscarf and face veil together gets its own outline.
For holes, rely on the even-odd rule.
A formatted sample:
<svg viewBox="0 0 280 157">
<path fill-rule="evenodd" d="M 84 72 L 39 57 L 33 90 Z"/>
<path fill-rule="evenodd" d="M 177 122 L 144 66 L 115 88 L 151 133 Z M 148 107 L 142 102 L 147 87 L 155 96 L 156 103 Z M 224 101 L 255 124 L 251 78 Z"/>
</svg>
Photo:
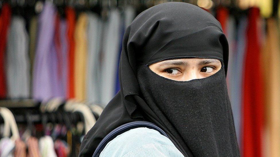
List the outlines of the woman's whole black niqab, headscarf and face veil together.
<svg viewBox="0 0 280 157">
<path fill-rule="evenodd" d="M 147 67 L 194 57 L 219 59 L 223 67 L 209 77 L 180 83 Z M 163 129 L 185 156 L 239 156 L 225 82 L 227 64 L 227 39 L 207 11 L 183 2 L 143 11 L 123 37 L 121 90 L 83 138 L 79 156 L 92 156 L 109 132 L 139 120 Z"/>
</svg>

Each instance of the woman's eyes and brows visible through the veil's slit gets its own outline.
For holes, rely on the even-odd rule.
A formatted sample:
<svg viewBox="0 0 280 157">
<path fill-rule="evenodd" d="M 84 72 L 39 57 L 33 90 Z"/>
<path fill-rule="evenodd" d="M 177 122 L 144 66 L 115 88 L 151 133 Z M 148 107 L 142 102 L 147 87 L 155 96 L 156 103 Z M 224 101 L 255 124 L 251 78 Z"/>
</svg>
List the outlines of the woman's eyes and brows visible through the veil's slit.
<svg viewBox="0 0 280 157">
<path fill-rule="evenodd" d="M 156 74 L 176 81 L 189 81 L 213 75 L 221 69 L 221 61 L 207 58 L 165 60 L 149 65 Z"/>
</svg>

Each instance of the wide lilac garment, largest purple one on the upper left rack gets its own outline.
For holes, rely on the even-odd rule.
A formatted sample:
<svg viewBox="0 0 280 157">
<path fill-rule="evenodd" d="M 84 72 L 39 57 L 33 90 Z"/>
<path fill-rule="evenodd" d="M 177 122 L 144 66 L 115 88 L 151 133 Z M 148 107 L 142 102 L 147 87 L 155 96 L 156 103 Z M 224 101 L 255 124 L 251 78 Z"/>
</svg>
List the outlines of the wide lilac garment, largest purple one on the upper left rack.
<svg viewBox="0 0 280 157">
<path fill-rule="evenodd" d="M 62 88 L 58 80 L 57 53 L 55 51 L 55 6 L 46 2 L 38 19 L 38 37 L 33 72 L 33 98 L 47 101 L 61 97 Z"/>
</svg>

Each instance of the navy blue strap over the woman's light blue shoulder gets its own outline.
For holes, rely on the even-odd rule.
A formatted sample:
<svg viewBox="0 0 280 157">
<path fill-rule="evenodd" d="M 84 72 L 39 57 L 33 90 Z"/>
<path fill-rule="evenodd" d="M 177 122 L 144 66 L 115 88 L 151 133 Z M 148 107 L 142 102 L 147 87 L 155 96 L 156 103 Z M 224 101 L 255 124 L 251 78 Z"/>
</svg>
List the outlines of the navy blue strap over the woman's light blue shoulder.
<svg viewBox="0 0 280 157">
<path fill-rule="evenodd" d="M 127 124 L 124 124 L 122 126 L 119 126 L 118 128 L 114 129 L 113 131 L 111 131 L 107 136 L 105 136 L 103 138 L 103 140 L 98 144 L 96 150 L 94 151 L 94 154 L 92 157 L 99 157 L 100 153 L 102 152 L 102 150 L 105 148 L 105 146 L 114 138 L 116 138 L 118 135 L 129 131 L 131 129 L 134 128 L 149 128 L 149 129 L 153 129 L 153 130 L 157 130 L 158 132 L 160 132 L 160 134 L 167 136 L 167 134 L 158 126 L 156 126 L 155 124 L 151 123 L 151 122 L 145 122 L 145 121 L 136 121 L 136 122 L 130 122 Z"/>
</svg>

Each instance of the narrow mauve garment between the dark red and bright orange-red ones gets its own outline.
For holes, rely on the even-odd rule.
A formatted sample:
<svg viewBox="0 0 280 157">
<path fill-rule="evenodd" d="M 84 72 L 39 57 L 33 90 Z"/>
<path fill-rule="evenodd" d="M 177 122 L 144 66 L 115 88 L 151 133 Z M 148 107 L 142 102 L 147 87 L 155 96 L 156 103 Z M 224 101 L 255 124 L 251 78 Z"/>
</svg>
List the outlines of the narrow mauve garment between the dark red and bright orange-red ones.
<svg viewBox="0 0 280 157">
<path fill-rule="evenodd" d="M 62 95 L 67 98 L 67 76 L 68 76 L 68 43 L 67 23 L 65 19 L 60 20 L 60 43 L 62 53 Z"/>
</svg>

